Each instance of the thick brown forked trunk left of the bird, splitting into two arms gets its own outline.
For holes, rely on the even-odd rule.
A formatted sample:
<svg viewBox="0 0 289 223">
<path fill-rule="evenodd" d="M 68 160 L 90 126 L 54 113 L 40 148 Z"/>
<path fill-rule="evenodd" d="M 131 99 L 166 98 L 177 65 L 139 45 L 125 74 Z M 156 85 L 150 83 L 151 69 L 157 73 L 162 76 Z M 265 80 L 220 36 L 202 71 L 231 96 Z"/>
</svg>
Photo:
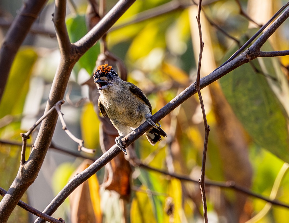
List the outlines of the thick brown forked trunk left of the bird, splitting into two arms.
<svg viewBox="0 0 289 223">
<path fill-rule="evenodd" d="M 117 3 L 117 6 L 112 8 L 112 10 L 105 16 L 100 22 L 100 25 L 95 26 L 89 34 L 87 34 L 84 38 L 78 41 L 79 49 L 81 51 L 76 53 L 73 50 L 70 50 L 70 54 L 64 56 L 63 52 L 60 60 L 60 64 L 55 74 L 55 78 L 53 80 L 53 84 L 51 87 L 51 91 L 49 94 L 49 99 L 45 108 L 45 111 L 48 111 L 57 101 L 60 101 L 64 97 L 64 93 L 66 90 L 66 86 L 68 83 L 69 76 L 71 74 L 71 70 L 77 60 L 95 43 L 99 40 L 101 36 L 105 34 L 105 32 L 114 24 L 114 22 L 125 12 L 127 8 L 134 2 L 135 0 L 121 0 Z M 62 2 L 62 3 L 60 3 Z M 63 24 L 61 23 L 61 19 L 58 20 L 57 16 L 63 18 L 65 10 L 65 3 L 62 0 L 55 1 L 55 16 L 54 19 L 57 19 L 55 22 L 55 26 Z M 61 13 L 60 13 L 61 12 Z M 60 13 L 60 14 L 59 14 Z M 64 13 L 65 14 L 65 13 Z M 58 23 L 58 21 L 60 23 Z M 63 34 L 60 30 L 60 27 L 57 27 L 58 31 L 58 42 L 68 40 L 65 37 L 65 33 Z M 64 35 L 64 36 L 60 36 Z M 62 44 L 62 43 L 61 43 Z M 67 44 L 67 43 L 66 43 Z M 81 46 L 81 44 L 85 44 L 85 46 Z M 64 47 L 65 48 L 65 47 Z M 63 49 L 64 49 L 63 48 Z M 73 48 L 72 48 L 73 49 Z M 1 81 L 2 83 L 2 81 Z M 51 142 L 56 121 L 58 115 L 56 111 L 51 112 L 51 115 L 45 118 L 41 125 L 38 136 L 34 143 L 34 148 L 24 165 L 18 170 L 18 174 L 14 179 L 12 185 L 10 186 L 7 194 L 0 202 L 0 219 L 3 222 L 7 222 L 10 214 L 13 209 L 17 205 L 18 201 L 21 199 L 27 188 L 35 181 L 38 172 L 42 166 L 45 155 L 49 148 L 49 144 Z"/>
</svg>

